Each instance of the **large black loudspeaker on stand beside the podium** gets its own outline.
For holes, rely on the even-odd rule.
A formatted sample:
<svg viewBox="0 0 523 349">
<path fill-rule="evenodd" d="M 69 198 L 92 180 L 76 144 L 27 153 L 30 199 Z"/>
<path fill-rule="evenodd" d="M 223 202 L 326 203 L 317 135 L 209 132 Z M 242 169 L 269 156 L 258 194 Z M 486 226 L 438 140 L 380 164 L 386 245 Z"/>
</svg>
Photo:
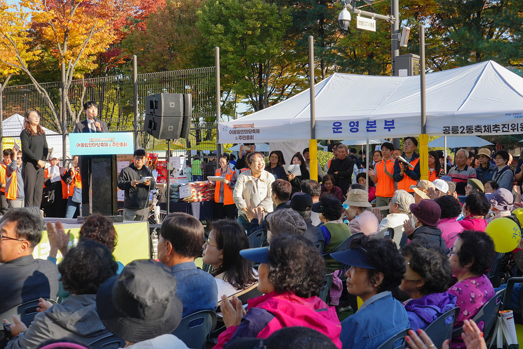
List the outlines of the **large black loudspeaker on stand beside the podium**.
<svg viewBox="0 0 523 349">
<path fill-rule="evenodd" d="M 192 116 L 191 97 L 180 93 L 145 97 L 143 130 L 156 139 L 187 138 Z"/>
</svg>

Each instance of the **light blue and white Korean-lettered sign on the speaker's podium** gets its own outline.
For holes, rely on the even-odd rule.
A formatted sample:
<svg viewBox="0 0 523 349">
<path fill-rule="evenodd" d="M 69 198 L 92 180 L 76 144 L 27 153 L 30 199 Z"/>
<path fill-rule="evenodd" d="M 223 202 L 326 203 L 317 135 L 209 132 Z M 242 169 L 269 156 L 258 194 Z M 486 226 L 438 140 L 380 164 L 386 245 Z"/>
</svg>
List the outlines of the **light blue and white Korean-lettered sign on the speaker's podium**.
<svg viewBox="0 0 523 349">
<path fill-rule="evenodd" d="M 132 132 L 70 133 L 71 155 L 134 153 Z"/>
</svg>

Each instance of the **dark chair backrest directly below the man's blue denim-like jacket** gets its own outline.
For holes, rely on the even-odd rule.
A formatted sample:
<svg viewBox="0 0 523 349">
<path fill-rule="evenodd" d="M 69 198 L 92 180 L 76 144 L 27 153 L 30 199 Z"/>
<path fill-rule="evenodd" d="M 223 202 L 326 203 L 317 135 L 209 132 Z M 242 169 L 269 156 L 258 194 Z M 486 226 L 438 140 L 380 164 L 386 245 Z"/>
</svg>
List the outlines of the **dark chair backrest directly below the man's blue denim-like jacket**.
<svg viewBox="0 0 523 349">
<path fill-rule="evenodd" d="M 200 349 L 205 347 L 215 326 L 216 313 L 212 310 L 202 310 L 181 319 L 173 334 L 189 348 Z"/>
</svg>

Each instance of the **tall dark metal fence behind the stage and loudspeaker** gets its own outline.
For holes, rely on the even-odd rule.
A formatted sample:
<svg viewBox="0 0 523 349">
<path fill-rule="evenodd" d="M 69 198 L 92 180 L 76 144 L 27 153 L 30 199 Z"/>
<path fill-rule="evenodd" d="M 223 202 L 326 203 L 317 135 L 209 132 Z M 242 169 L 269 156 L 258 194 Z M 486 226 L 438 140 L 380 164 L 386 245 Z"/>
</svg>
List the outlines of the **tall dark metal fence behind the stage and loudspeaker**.
<svg viewBox="0 0 523 349">
<path fill-rule="evenodd" d="M 3 90 L 2 139 L 4 143 L 18 138 L 26 110 L 36 109 L 40 114 L 40 124 L 47 128 L 49 147 L 54 154 L 62 157 L 62 132 L 60 127 L 60 82 L 43 83 L 52 107 L 33 85 L 6 86 Z M 99 78 L 74 80 L 67 91 L 70 108 L 67 108 L 65 125 L 67 133 L 73 132 L 76 122 L 85 118 L 83 103 L 94 100 L 98 104 L 100 120 L 107 122 L 109 131 L 134 131 L 134 105 L 138 105 L 139 146 L 147 151 L 165 156 L 167 142 L 156 140 L 143 131 L 145 117 L 145 97 L 156 93 L 192 94 L 192 123 L 187 140 L 176 140 L 172 147 L 184 152 L 182 148 L 195 147 L 203 140 L 215 139 L 215 67 L 138 74 L 138 99 L 134 100 L 131 75 L 116 75 Z M 52 110 L 59 111 L 58 115 Z M 18 115 L 17 115 L 18 114 Z M 6 139 L 8 138 L 8 139 Z M 69 157 L 69 147 L 65 153 Z M 176 149 L 178 148 L 178 149 Z M 203 147 L 200 147 L 205 148 Z M 208 146 L 210 151 L 215 145 Z M 203 149 L 202 149 L 203 150 Z"/>
</svg>

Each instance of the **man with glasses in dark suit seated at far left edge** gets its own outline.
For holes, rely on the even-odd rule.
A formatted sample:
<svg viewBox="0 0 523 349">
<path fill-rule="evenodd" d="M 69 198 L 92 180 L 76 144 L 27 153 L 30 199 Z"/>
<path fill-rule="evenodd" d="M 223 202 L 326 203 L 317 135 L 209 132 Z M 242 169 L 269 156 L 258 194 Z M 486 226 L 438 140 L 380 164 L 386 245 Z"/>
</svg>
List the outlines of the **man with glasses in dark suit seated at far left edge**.
<svg viewBox="0 0 523 349">
<path fill-rule="evenodd" d="M 38 216 L 23 208 L 12 208 L 0 224 L 0 313 L 22 303 L 42 298 L 56 298 L 58 269 L 54 263 L 33 258 L 42 239 Z M 56 257 L 56 254 L 54 255 Z"/>
</svg>

